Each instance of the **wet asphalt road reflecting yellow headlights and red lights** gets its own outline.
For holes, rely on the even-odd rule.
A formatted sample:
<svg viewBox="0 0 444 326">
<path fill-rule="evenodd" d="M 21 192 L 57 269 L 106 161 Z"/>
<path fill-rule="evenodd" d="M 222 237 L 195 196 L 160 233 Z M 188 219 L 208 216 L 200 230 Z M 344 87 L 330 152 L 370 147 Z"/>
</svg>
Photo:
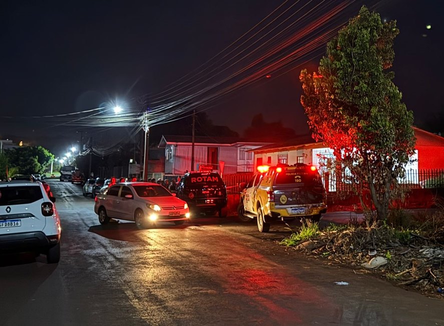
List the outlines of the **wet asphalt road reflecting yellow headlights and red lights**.
<svg viewBox="0 0 444 326">
<path fill-rule="evenodd" d="M 104 227 L 80 186 L 49 182 L 62 258 L 0 256 L 2 325 L 444 325 L 444 299 L 282 247 L 285 225 Z"/>
</svg>

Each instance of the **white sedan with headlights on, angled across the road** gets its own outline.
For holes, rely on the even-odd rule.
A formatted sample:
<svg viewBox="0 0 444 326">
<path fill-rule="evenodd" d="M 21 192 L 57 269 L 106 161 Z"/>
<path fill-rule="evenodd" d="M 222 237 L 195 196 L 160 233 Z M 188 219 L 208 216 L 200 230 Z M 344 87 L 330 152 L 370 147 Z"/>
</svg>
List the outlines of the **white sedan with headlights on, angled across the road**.
<svg viewBox="0 0 444 326">
<path fill-rule="evenodd" d="M 133 220 L 143 229 L 156 222 L 183 224 L 190 218 L 188 204 L 165 187 L 151 182 L 116 183 L 96 196 L 94 211 L 99 222 L 110 218 Z"/>
</svg>

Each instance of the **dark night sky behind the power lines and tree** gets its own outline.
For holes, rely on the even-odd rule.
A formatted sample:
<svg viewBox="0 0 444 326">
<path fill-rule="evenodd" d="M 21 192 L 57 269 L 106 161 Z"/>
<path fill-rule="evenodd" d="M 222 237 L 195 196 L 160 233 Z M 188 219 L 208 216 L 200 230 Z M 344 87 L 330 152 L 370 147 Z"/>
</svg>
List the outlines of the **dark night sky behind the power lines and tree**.
<svg viewBox="0 0 444 326">
<path fill-rule="evenodd" d="M 282 2 L 1 1 L 0 116 L 15 118 L 2 118 L 0 137 L 34 139 L 59 155 L 60 148 L 77 141 L 76 131 L 89 129 L 23 116 L 81 111 L 116 98 L 132 106 L 138 96 L 156 94 L 206 62 Z M 357 9 L 347 9 L 348 17 L 361 4 L 378 3 L 355 2 Z M 382 18 L 397 20 L 394 81 L 417 125 L 444 110 L 440 2 L 379 1 L 376 8 Z M 282 120 L 296 133 L 308 132 L 298 75 L 318 62 L 319 56 L 295 63 L 279 77 L 264 76 L 212 103 L 207 112 L 215 124 L 240 134 L 256 113 L 268 122 Z M 107 132 L 113 131 L 101 132 L 102 138 Z"/>
</svg>

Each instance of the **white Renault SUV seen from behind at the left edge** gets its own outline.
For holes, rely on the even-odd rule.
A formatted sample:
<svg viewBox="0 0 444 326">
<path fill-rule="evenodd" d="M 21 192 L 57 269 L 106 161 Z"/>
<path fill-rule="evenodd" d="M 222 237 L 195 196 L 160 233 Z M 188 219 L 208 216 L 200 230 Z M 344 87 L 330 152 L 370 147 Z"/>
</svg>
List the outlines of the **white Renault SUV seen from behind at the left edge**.
<svg viewBox="0 0 444 326">
<path fill-rule="evenodd" d="M 60 260 L 60 217 L 41 182 L 0 182 L 0 253 L 36 251 Z"/>
</svg>

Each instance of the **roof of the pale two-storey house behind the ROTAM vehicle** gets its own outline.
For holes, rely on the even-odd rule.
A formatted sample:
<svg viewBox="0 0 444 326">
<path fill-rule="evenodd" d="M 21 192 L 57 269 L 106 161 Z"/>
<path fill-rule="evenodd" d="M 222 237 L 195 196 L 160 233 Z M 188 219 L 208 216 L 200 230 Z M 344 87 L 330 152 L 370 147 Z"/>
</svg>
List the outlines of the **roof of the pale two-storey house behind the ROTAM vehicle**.
<svg viewBox="0 0 444 326">
<path fill-rule="evenodd" d="M 162 135 L 159 147 L 165 147 L 166 144 L 191 144 L 193 141 L 192 136 L 181 135 Z M 211 137 L 211 136 L 195 136 L 195 144 L 218 144 L 218 145 L 252 145 L 262 146 L 267 144 L 266 142 L 257 141 L 245 141 L 239 137 Z"/>
</svg>

